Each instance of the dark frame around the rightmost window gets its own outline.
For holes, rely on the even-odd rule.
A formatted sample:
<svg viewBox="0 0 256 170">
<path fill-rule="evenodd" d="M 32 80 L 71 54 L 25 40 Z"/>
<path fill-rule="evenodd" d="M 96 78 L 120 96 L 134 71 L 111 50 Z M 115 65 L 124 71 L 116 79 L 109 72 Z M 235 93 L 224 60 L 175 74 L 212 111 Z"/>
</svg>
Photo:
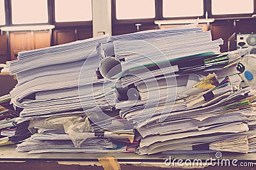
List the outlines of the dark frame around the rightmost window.
<svg viewBox="0 0 256 170">
<path fill-rule="evenodd" d="M 252 15 L 256 14 L 256 0 L 253 0 L 253 13 L 236 13 L 236 14 L 221 14 L 221 15 L 214 15 L 212 14 L 212 0 L 209 1 L 209 17 L 212 18 L 243 18 L 248 17 L 252 18 Z"/>
</svg>

